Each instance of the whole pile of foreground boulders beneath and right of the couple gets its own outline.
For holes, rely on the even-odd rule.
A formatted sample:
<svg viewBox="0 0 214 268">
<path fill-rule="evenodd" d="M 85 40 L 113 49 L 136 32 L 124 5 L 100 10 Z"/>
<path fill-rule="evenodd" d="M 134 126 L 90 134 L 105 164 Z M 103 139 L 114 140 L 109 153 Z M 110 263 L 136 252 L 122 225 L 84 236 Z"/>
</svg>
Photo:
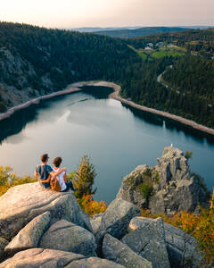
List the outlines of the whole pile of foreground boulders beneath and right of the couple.
<svg viewBox="0 0 214 268">
<path fill-rule="evenodd" d="M 192 252 L 193 263 L 200 262 L 193 238 L 185 252 L 181 230 L 139 214 L 116 198 L 89 218 L 72 191 L 53 192 L 37 182 L 13 187 L 0 197 L 0 268 L 180 268 Z"/>
</svg>

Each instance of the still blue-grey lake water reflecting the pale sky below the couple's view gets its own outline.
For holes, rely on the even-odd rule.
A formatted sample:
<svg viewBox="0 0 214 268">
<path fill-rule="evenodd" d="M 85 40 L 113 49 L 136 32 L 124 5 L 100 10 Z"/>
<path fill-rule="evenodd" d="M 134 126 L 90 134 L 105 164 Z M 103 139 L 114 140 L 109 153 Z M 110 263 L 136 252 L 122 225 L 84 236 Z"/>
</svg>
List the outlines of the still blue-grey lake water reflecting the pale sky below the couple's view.
<svg viewBox="0 0 214 268">
<path fill-rule="evenodd" d="M 86 87 L 84 92 L 58 96 L 0 121 L 0 165 L 18 175 L 32 175 L 39 155 L 50 163 L 62 156 L 69 172 L 83 155 L 94 163 L 96 200 L 110 203 L 122 177 L 139 164 L 155 165 L 164 147 L 193 151 L 193 172 L 214 185 L 214 138 L 176 122 L 137 111 L 108 99 L 110 88 Z"/>
</svg>

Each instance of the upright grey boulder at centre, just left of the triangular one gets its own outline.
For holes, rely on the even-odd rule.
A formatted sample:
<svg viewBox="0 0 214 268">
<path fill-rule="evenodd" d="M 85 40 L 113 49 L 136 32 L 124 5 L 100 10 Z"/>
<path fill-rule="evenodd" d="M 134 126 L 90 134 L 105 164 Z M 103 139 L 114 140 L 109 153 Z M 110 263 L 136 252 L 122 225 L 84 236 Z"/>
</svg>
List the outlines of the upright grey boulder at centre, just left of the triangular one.
<svg viewBox="0 0 214 268">
<path fill-rule="evenodd" d="M 100 244 L 106 233 L 120 239 L 125 235 L 132 218 L 140 214 L 140 209 L 125 200 L 116 198 L 103 213 L 102 222 L 96 232 L 96 240 Z"/>
</svg>

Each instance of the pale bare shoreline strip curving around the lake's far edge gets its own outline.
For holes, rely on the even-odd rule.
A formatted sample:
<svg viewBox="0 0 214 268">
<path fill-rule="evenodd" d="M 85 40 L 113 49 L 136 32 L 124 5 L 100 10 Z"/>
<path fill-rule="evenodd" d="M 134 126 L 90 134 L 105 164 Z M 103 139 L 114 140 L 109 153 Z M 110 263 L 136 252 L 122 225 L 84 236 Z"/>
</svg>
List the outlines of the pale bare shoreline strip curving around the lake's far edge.
<svg viewBox="0 0 214 268">
<path fill-rule="evenodd" d="M 199 123 L 196 123 L 195 121 L 192 120 L 188 120 L 185 119 L 181 116 L 172 114 L 172 113 L 167 113 L 167 112 L 162 112 L 160 110 L 156 110 L 153 108 L 149 108 L 146 107 L 144 105 L 137 105 L 136 103 L 127 100 L 125 98 L 122 98 L 119 96 L 119 90 L 120 90 L 120 86 L 113 83 L 113 82 L 107 82 L 107 81 L 102 81 L 102 80 L 98 80 L 98 81 L 81 81 L 81 82 L 76 82 L 76 83 L 72 83 L 70 85 L 68 85 L 64 90 L 62 91 L 57 91 L 57 92 L 53 92 L 51 94 L 45 95 L 45 96 L 39 96 L 37 98 L 34 98 L 32 100 L 29 100 L 28 102 L 21 104 L 21 105 L 17 105 L 12 107 L 11 109 L 9 109 L 6 113 L 2 113 L 0 114 L 0 121 L 4 120 L 5 118 L 8 118 L 12 115 L 12 113 L 15 113 L 16 111 L 19 111 L 23 108 L 27 108 L 30 105 L 37 105 L 39 104 L 40 101 L 45 100 L 45 99 L 50 99 L 54 96 L 62 96 L 62 95 L 67 95 L 67 94 L 71 94 L 74 92 L 79 92 L 82 89 L 79 87 L 83 87 L 83 86 L 100 86 L 100 87 L 108 87 L 108 88 L 113 88 L 114 92 L 112 92 L 110 94 L 110 98 L 115 99 L 120 101 L 123 104 L 129 105 L 131 107 L 134 107 L 136 109 L 148 112 L 148 113 L 154 113 L 154 114 L 158 114 L 161 115 L 163 117 L 167 117 L 169 119 L 172 119 L 173 121 L 179 121 L 182 124 L 185 124 L 187 126 L 192 127 L 195 130 L 200 130 L 202 132 L 208 133 L 210 135 L 214 135 L 214 130 L 210 129 L 208 127 L 205 127 Z"/>
</svg>

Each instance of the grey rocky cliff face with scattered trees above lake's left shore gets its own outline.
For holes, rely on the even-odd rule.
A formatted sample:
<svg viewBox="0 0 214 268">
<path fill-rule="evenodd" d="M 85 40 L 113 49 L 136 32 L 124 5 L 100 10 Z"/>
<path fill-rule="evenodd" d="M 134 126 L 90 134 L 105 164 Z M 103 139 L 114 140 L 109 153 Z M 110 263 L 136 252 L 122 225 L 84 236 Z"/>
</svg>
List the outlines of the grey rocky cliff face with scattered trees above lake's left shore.
<svg viewBox="0 0 214 268">
<path fill-rule="evenodd" d="M 5 107 L 20 105 L 29 99 L 44 95 L 47 88 L 49 93 L 53 92 L 53 84 L 48 73 L 38 78 L 29 61 L 15 51 L 0 48 L 0 96 Z"/>
</svg>

